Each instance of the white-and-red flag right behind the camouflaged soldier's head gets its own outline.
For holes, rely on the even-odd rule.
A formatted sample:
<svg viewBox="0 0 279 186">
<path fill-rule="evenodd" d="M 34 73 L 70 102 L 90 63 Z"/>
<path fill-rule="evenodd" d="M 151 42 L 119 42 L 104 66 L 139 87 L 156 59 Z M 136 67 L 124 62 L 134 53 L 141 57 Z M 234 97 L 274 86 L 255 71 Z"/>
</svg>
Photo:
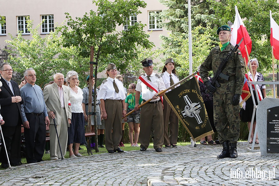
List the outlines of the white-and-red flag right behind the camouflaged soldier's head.
<svg viewBox="0 0 279 186">
<path fill-rule="evenodd" d="M 235 46 L 236 44 L 238 44 L 242 38 L 243 38 L 243 42 L 240 44 L 239 50 L 241 51 L 242 57 L 245 58 L 247 64 L 248 56 L 246 53 L 245 45 L 247 47 L 248 55 L 250 55 L 252 49 L 252 41 L 238 13 L 237 6 L 235 6 L 235 19 L 232 25 L 232 37 L 231 37 L 232 45 Z"/>
</svg>

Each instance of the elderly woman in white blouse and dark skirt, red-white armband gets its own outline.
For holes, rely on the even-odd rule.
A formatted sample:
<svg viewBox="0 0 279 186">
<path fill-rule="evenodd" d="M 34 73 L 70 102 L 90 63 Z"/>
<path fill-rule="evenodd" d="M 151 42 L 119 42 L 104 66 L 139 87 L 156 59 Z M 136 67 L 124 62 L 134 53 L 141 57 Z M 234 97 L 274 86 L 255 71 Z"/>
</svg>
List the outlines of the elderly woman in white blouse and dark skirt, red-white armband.
<svg viewBox="0 0 279 186">
<path fill-rule="evenodd" d="M 78 85 L 78 73 L 69 71 L 66 75 L 66 82 L 70 87 L 70 102 L 72 109 L 72 123 L 68 128 L 69 157 L 81 157 L 78 152 L 80 144 L 85 144 L 84 114 L 82 109 L 83 92 Z M 73 152 L 74 144 L 74 152 Z"/>
</svg>

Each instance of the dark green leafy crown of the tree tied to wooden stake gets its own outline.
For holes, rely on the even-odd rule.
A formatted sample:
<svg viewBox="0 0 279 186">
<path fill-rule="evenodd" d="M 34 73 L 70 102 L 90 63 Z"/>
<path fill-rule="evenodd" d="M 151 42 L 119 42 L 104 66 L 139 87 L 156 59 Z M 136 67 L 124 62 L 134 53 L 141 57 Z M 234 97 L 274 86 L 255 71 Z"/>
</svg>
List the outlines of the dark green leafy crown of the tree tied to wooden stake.
<svg viewBox="0 0 279 186">
<path fill-rule="evenodd" d="M 117 69 L 124 71 L 131 61 L 138 59 L 138 48 L 151 49 L 154 45 L 143 31 L 144 24 L 137 22 L 127 30 L 117 31 L 116 27 L 129 23 L 131 15 L 141 12 L 139 7 L 146 7 L 140 0 L 93 1 L 97 11 L 91 10 L 83 17 L 73 19 L 69 13 L 67 25 L 62 29 L 64 47 L 77 47 L 82 57 L 90 56 L 90 47 L 94 47 L 94 59 L 99 72 L 108 63 L 115 63 Z M 89 65 L 88 65 L 89 66 Z"/>
</svg>

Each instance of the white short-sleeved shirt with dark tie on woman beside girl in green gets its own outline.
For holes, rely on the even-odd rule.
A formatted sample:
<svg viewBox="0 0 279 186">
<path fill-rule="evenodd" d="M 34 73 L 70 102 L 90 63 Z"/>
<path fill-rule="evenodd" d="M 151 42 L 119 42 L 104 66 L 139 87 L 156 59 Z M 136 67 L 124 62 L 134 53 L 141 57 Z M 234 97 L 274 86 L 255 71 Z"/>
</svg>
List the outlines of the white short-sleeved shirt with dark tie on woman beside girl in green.
<svg viewBox="0 0 279 186">
<path fill-rule="evenodd" d="M 123 83 L 116 78 L 110 78 L 108 77 L 106 79 L 107 81 L 102 83 L 100 86 L 100 90 L 97 96 L 97 100 L 103 99 L 103 100 L 125 100 L 126 95 L 125 95 L 125 90 Z M 116 93 L 114 87 L 113 87 L 113 80 L 115 81 L 119 92 Z"/>
</svg>

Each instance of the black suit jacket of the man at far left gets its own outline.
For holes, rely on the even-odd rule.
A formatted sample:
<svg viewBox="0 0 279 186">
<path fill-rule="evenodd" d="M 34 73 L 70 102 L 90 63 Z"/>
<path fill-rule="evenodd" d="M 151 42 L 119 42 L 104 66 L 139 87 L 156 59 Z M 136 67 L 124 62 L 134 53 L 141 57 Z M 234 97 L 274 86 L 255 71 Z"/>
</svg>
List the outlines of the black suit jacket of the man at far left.
<svg viewBox="0 0 279 186">
<path fill-rule="evenodd" d="M 11 97 L 20 95 L 18 84 L 15 81 L 11 81 L 15 93 L 15 95 L 13 95 L 10 87 L 5 82 L 5 80 L 1 78 L 0 81 L 3 84 L 3 86 L 1 86 L 1 92 L 0 92 L 0 105 L 1 105 L 0 113 L 3 117 L 3 120 L 5 121 L 4 125 L 16 126 L 19 123 L 18 121 L 19 119 L 20 119 L 20 124 L 22 124 L 20 104 L 23 103 L 23 101 L 21 101 L 20 103 L 11 102 Z"/>
</svg>

